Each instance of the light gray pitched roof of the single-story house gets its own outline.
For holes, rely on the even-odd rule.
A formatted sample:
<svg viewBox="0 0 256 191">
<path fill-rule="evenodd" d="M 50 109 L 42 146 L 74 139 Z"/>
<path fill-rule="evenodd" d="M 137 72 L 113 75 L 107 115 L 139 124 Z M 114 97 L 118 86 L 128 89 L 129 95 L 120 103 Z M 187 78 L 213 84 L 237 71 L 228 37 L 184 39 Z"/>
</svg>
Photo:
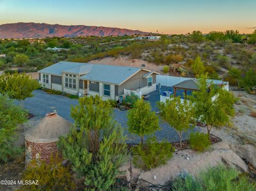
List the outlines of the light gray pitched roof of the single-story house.
<svg viewBox="0 0 256 191">
<path fill-rule="evenodd" d="M 140 68 L 121 67 L 117 65 L 88 64 L 77 62 L 58 62 L 50 67 L 39 70 L 39 73 L 61 75 L 62 72 L 82 74 L 80 79 L 106 82 L 120 85 L 132 74 L 140 71 Z M 84 74 L 85 73 L 85 74 Z"/>
</svg>

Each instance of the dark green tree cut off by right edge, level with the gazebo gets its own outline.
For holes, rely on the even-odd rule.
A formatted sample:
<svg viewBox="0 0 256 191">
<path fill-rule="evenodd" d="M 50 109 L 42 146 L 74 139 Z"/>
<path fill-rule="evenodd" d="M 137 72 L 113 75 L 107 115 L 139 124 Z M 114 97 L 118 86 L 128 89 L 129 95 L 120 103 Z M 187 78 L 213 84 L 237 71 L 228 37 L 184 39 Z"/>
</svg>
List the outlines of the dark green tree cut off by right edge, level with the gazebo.
<svg viewBox="0 0 256 191">
<path fill-rule="evenodd" d="M 242 79 L 242 84 L 247 92 L 252 93 L 256 87 L 256 71 L 249 69 Z"/>
</svg>

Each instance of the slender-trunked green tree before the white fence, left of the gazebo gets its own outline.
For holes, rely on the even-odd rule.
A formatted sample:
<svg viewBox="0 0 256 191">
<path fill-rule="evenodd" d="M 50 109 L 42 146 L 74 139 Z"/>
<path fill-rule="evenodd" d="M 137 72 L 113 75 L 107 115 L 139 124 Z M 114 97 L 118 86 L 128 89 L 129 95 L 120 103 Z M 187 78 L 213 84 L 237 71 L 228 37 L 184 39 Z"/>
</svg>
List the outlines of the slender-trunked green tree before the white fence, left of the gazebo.
<svg viewBox="0 0 256 191">
<path fill-rule="evenodd" d="M 182 147 L 182 135 L 193 128 L 195 123 L 195 110 L 192 103 L 186 98 L 181 99 L 177 96 L 167 99 L 165 103 L 158 102 L 158 108 L 161 117 L 179 134 L 180 147 Z"/>
</svg>

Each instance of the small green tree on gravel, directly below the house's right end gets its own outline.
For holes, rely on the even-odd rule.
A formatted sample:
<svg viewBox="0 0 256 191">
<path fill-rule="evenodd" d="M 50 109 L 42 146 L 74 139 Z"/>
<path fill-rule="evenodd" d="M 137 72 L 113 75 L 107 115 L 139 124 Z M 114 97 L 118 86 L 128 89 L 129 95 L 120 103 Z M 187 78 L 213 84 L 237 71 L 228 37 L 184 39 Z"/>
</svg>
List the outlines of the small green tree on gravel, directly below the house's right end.
<svg viewBox="0 0 256 191">
<path fill-rule="evenodd" d="M 140 136 L 141 143 L 145 135 L 151 135 L 160 129 L 156 113 L 151 111 L 150 103 L 143 99 L 138 99 L 134 108 L 128 111 L 127 125 L 130 133 Z"/>
</svg>

